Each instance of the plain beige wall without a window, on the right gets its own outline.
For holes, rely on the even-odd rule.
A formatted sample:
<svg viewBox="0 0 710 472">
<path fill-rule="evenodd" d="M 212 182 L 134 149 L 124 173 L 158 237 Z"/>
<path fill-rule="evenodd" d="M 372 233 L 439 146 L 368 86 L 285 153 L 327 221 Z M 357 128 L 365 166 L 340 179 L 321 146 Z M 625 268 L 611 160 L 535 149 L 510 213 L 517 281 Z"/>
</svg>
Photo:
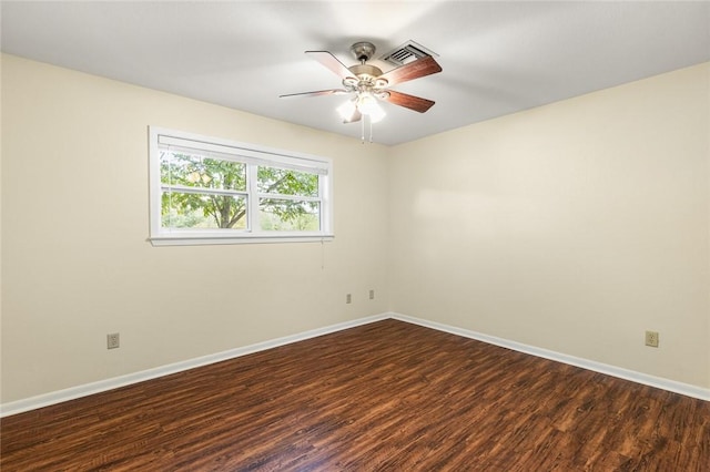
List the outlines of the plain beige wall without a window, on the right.
<svg viewBox="0 0 710 472">
<path fill-rule="evenodd" d="M 392 309 L 710 387 L 709 111 L 706 63 L 393 148 Z"/>
</svg>

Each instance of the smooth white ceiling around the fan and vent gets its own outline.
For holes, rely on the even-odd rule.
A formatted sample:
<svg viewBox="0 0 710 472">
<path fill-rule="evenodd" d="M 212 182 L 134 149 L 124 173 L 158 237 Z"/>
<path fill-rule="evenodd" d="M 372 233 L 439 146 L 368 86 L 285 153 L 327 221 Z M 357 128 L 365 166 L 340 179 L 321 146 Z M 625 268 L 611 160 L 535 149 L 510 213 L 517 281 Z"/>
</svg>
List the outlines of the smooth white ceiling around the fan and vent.
<svg viewBox="0 0 710 472">
<path fill-rule="evenodd" d="M 383 104 L 374 141 L 398 144 L 710 61 L 710 3 L 503 1 L 2 1 L 3 52 L 359 137 L 341 86 L 304 54 L 349 45 L 375 58 L 414 40 L 443 72 L 395 90 L 434 100 Z M 392 65 L 373 62 L 385 72 Z"/>
</svg>

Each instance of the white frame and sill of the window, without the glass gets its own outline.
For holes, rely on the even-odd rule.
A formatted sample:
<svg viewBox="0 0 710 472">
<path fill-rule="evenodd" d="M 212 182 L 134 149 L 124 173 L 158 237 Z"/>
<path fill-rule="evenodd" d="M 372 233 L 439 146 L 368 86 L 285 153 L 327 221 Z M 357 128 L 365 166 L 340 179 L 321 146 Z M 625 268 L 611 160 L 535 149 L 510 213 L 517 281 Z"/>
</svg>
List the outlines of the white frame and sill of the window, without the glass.
<svg viewBox="0 0 710 472">
<path fill-rule="evenodd" d="M 219 137 L 203 136 L 164 127 L 149 127 L 150 144 L 150 237 L 153 246 L 184 246 L 244 243 L 312 243 L 332 240 L 333 235 L 333 161 L 327 157 L 268 148 L 255 144 L 240 143 Z M 247 225 L 245 229 L 181 229 L 162 226 L 161 148 L 186 148 L 202 155 L 219 156 L 223 160 L 246 165 Z M 320 203 L 321 229 L 317 232 L 262 230 L 258 225 L 258 199 L 256 170 L 258 165 L 293 168 L 318 174 L 318 196 L 304 197 L 268 194 L 271 197 Z M 203 193 L 203 192 L 199 192 Z M 206 192 L 204 192 L 206 193 Z"/>
</svg>

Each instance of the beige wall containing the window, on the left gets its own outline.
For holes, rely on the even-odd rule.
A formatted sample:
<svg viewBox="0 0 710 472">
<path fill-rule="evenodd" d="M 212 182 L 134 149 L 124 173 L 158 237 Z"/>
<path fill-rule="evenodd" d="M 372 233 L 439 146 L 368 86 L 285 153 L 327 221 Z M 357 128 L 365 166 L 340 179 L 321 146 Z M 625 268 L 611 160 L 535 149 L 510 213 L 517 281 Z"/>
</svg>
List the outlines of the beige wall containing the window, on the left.
<svg viewBox="0 0 710 472">
<path fill-rule="evenodd" d="M 333 158 L 335 240 L 152 247 L 149 125 Z M 11 55 L 2 126 L 2 402 L 387 309 L 386 147 Z"/>
</svg>

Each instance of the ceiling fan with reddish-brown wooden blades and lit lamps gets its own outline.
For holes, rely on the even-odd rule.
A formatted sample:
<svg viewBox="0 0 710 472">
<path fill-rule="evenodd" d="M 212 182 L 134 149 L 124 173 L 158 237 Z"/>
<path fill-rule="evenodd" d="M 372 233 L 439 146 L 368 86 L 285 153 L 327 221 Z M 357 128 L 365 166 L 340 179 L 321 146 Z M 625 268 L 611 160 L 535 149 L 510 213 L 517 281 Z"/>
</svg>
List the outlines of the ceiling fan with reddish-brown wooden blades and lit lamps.
<svg viewBox="0 0 710 472">
<path fill-rule="evenodd" d="M 280 98 L 354 94 L 352 100 L 338 107 L 343 123 L 354 123 L 361 121 L 363 116 L 367 116 L 371 123 L 382 120 L 385 112 L 377 103 L 379 100 L 419 113 L 426 112 L 434 105 L 432 100 L 389 89 L 403 82 L 442 72 L 442 66 L 433 57 L 427 55 L 383 73 L 379 68 L 367 64 L 375 53 L 373 43 L 356 42 L 351 47 L 351 52 L 359 63 L 348 68 L 328 51 L 306 51 L 308 57 L 342 79 L 343 89 L 292 93 L 280 95 Z"/>
</svg>

